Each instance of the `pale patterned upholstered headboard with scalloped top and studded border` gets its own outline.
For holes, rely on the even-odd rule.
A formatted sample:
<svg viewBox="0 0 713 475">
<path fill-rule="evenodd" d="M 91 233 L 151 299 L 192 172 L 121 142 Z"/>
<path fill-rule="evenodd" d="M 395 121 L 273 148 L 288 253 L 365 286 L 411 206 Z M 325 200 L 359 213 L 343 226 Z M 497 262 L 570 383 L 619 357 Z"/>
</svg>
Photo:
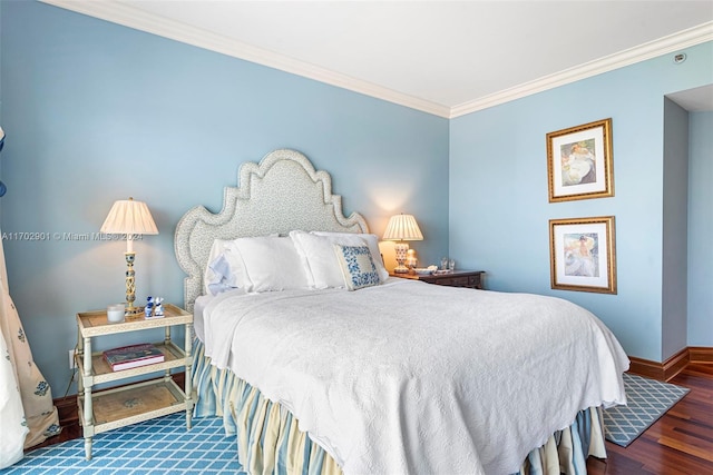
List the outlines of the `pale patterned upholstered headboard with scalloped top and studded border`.
<svg viewBox="0 0 713 475">
<path fill-rule="evenodd" d="M 225 188 L 218 214 L 196 206 L 176 226 L 176 258 L 188 275 L 184 281 L 188 311 L 203 291 L 203 274 L 214 239 L 284 235 L 294 229 L 369 232 L 358 212 L 344 217 L 342 197 L 332 195 L 331 176 L 316 171 L 296 150 L 279 149 L 260 164 L 243 164 L 237 185 Z"/>
</svg>

